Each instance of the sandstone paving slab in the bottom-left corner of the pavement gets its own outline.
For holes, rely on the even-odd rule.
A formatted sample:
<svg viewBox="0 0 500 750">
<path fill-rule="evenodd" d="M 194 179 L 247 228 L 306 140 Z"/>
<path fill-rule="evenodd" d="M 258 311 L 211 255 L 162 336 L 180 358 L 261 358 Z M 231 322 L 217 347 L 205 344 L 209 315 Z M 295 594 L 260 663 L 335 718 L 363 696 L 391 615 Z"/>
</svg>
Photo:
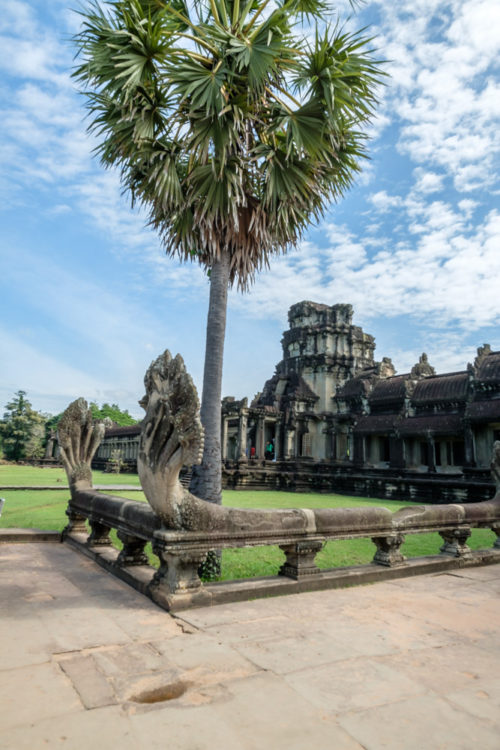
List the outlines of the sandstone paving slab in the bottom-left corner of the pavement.
<svg viewBox="0 0 500 750">
<path fill-rule="evenodd" d="M 135 734 L 119 706 L 64 714 L 0 732 L 0 750 L 141 750 L 149 746 L 149 738 Z"/>
</svg>

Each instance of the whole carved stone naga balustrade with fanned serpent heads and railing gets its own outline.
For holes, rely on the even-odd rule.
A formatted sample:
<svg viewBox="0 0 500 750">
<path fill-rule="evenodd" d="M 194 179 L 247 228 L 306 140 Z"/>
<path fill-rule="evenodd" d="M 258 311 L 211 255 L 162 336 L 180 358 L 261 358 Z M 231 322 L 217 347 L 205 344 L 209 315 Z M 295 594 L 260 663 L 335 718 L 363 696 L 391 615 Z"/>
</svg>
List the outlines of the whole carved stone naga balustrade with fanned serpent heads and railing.
<svg viewBox="0 0 500 750">
<path fill-rule="evenodd" d="M 173 359 L 167 351 L 155 360 L 145 385 L 138 468 L 149 505 L 92 489 L 90 463 L 104 427 L 78 399 L 58 428 L 71 489 L 63 538 L 166 609 L 500 562 L 500 490 L 481 503 L 409 506 L 396 513 L 382 507 L 243 510 L 200 500 L 178 478 L 183 464 L 199 462 L 203 445 L 196 390 L 180 356 Z M 492 470 L 498 479 L 500 442 L 494 449 Z M 473 528 L 496 533 L 492 549 L 470 550 L 467 539 Z M 111 544 L 111 529 L 123 544 L 121 551 Z M 442 537 L 440 554 L 406 560 L 401 553 L 406 535 L 430 531 Z M 372 564 L 317 567 L 315 558 L 325 542 L 354 538 L 372 540 Z M 157 570 L 148 565 L 148 542 L 159 558 Z M 265 545 L 278 545 L 285 554 L 278 576 L 208 584 L 200 580 L 198 569 L 210 550 Z"/>
</svg>

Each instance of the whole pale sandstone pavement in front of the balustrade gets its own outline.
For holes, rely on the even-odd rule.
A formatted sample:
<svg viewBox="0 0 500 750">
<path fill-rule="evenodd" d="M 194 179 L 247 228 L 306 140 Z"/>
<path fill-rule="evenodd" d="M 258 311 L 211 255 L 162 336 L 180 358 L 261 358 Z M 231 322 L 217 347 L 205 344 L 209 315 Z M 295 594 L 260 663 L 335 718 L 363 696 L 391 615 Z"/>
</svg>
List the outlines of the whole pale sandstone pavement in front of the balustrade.
<svg viewBox="0 0 500 750">
<path fill-rule="evenodd" d="M 1 750 L 498 750 L 500 566 L 172 617 L 0 545 Z"/>
</svg>

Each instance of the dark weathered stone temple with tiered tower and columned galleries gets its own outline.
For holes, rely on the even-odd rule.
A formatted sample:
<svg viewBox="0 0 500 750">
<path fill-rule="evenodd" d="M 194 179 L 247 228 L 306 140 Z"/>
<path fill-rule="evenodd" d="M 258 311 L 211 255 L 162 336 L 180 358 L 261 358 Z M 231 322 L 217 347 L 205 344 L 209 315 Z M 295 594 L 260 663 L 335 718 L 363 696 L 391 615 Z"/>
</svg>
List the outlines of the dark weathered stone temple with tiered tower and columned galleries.
<svg viewBox="0 0 500 750">
<path fill-rule="evenodd" d="M 351 305 L 299 302 L 288 314 L 283 359 L 248 404 L 222 401 L 224 482 L 421 499 L 491 494 L 500 440 L 500 352 L 437 375 L 422 354 L 409 373 L 374 358 L 375 339 Z M 135 463 L 140 426 L 108 430 L 96 465 L 120 448 Z"/>
</svg>

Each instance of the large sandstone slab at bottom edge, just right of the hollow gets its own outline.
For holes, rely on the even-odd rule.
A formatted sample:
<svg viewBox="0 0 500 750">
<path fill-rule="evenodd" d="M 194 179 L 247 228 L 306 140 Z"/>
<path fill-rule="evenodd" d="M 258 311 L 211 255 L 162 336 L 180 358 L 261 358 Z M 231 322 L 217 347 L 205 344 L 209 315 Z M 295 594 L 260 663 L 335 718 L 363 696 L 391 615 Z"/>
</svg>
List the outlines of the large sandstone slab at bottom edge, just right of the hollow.
<svg viewBox="0 0 500 750">
<path fill-rule="evenodd" d="M 138 735 L 150 738 L 150 748 L 164 748 L 168 736 L 173 750 L 362 750 L 330 716 L 271 674 L 232 682 L 190 710 L 171 701 L 130 720 Z"/>
</svg>

